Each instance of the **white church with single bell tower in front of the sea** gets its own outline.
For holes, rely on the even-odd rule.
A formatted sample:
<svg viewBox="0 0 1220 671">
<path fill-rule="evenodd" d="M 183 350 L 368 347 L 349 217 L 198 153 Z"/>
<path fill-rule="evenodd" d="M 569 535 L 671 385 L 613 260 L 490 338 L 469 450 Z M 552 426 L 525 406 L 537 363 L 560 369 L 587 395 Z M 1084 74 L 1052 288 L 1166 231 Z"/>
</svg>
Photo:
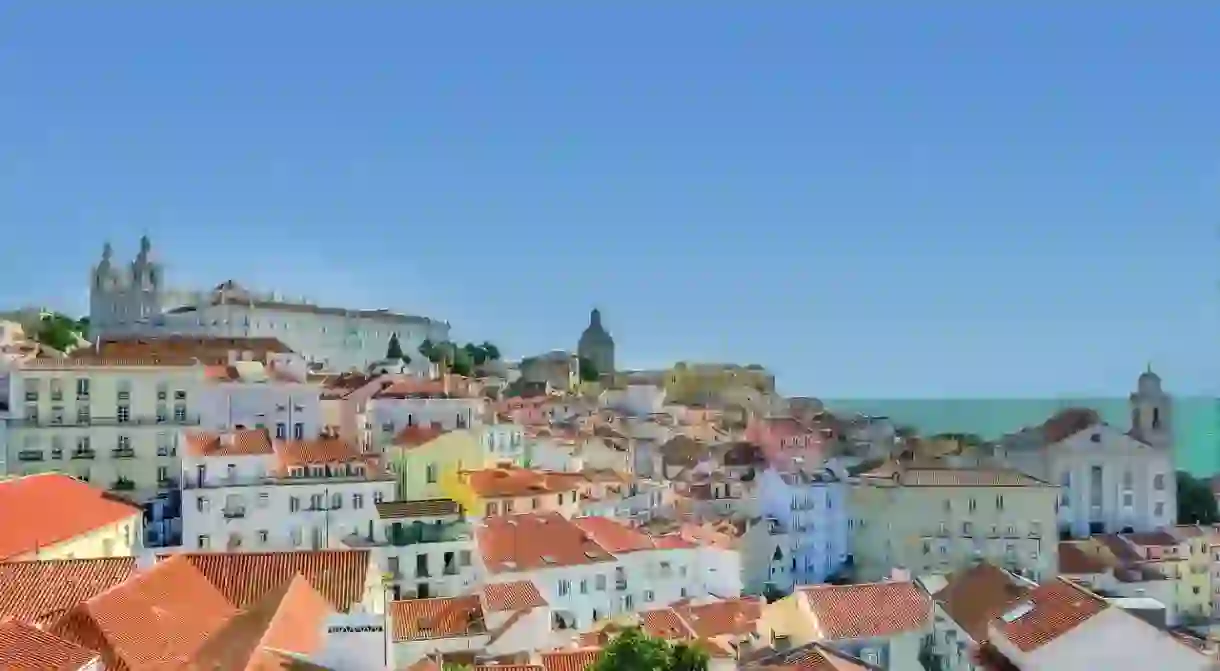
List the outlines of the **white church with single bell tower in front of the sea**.
<svg viewBox="0 0 1220 671">
<path fill-rule="evenodd" d="M 1152 371 L 1131 394 L 1131 429 L 1071 409 L 1004 442 L 1003 459 L 1060 487 L 1059 527 L 1074 538 L 1177 522 L 1172 400 Z"/>
</svg>

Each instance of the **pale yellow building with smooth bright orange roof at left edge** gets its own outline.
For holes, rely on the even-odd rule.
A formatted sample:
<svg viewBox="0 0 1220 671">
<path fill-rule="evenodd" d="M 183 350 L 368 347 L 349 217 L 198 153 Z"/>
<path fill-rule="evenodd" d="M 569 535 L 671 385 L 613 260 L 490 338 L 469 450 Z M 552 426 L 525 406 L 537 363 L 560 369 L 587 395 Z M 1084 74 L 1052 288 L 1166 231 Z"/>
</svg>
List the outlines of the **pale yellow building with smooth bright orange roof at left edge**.
<svg viewBox="0 0 1220 671">
<path fill-rule="evenodd" d="M 59 473 L 0 482 L 0 561 L 134 556 L 143 511 Z"/>
</svg>

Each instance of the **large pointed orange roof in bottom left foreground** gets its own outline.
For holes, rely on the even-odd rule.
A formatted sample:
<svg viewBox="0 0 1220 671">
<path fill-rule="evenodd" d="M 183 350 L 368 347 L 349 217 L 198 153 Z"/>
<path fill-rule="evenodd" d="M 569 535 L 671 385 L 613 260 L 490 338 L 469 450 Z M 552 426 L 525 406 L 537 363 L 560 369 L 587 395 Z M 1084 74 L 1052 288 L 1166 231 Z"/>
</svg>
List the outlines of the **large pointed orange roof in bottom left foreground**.
<svg viewBox="0 0 1220 671">
<path fill-rule="evenodd" d="M 162 669 L 189 659 L 235 614 L 176 556 L 77 605 L 50 632 L 100 651 L 107 669 Z"/>
</svg>

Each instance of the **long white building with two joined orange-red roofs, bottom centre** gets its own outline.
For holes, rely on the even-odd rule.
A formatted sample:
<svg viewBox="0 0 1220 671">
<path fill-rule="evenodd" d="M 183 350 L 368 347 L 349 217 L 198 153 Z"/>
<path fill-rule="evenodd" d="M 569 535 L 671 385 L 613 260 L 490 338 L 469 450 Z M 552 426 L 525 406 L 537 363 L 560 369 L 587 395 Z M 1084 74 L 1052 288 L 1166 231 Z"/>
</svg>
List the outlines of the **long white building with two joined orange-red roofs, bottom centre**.
<svg viewBox="0 0 1220 671">
<path fill-rule="evenodd" d="M 476 526 L 476 539 L 484 581 L 536 584 L 556 630 L 587 631 L 620 614 L 708 595 L 698 545 L 606 517 L 488 517 Z"/>
</svg>

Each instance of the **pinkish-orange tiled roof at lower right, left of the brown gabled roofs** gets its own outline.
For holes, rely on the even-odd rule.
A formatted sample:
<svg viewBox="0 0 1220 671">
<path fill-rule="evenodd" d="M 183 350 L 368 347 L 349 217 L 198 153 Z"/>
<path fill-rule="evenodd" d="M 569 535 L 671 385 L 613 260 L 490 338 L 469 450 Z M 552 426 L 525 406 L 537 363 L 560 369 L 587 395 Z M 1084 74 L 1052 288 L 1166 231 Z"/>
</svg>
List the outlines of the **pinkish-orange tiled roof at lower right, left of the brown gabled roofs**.
<svg viewBox="0 0 1220 671">
<path fill-rule="evenodd" d="M 826 640 L 894 636 L 924 627 L 932 616 L 931 599 L 913 582 L 820 584 L 799 592 Z"/>
</svg>

